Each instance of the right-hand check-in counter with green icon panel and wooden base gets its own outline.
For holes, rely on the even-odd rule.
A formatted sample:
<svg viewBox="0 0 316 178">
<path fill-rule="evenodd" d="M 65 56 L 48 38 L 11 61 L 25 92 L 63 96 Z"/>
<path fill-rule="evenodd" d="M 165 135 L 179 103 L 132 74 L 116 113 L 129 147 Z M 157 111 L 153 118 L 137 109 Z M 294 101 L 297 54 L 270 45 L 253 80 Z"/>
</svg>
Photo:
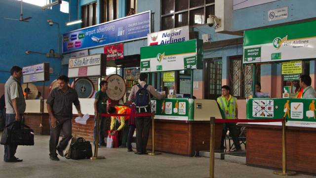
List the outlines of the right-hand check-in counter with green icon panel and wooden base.
<svg viewBox="0 0 316 178">
<path fill-rule="evenodd" d="M 287 169 L 316 174 L 315 99 L 249 99 L 247 119 L 286 117 Z M 250 165 L 281 168 L 281 123 L 239 124 L 246 127 L 247 155 Z"/>
</svg>

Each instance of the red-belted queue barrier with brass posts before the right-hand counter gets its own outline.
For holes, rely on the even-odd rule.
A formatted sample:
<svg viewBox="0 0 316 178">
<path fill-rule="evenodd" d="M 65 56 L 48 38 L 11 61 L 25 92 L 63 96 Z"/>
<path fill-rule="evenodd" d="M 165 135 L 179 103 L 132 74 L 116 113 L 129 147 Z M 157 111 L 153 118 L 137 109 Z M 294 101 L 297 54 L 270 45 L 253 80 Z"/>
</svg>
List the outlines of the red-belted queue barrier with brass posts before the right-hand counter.
<svg viewBox="0 0 316 178">
<path fill-rule="evenodd" d="M 282 171 L 274 171 L 278 176 L 294 176 L 295 172 L 286 170 L 286 119 L 215 119 L 210 117 L 210 157 L 209 178 L 214 178 L 215 123 L 262 123 L 282 122 Z"/>
</svg>

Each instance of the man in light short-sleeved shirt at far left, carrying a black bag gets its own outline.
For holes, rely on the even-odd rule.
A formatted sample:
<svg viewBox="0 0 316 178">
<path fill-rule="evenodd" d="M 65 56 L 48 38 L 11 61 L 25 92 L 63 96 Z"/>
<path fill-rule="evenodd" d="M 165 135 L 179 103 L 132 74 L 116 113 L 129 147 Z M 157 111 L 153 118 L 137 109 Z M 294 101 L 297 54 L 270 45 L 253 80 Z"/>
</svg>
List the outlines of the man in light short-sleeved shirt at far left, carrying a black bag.
<svg viewBox="0 0 316 178">
<path fill-rule="evenodd" d="M 21 87 L 22 68 L 13 66 L 11 76 L 4 85 L 4 97 L 6 106 L 5 126 L 11 130 L 21 128 L 22 115 L 25 112 L 26 103 Z M 13 123 L 16 122 L 14 125 Z M 5 162 L 21 162 L 23 160 L 14 156 L 17 144 L 4 145 Z"/>
</svg>

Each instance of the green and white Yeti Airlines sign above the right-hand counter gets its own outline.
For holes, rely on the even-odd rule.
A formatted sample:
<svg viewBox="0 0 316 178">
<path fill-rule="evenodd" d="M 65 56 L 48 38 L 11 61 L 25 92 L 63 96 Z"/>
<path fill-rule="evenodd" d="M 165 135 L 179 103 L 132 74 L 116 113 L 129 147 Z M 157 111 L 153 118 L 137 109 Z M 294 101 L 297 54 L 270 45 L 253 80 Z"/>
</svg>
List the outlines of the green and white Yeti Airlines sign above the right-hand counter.
<svg viewBox="0 0 316 178">
<path fill-rule="evenodd" d="M 315 28 L 316 21 L 310 21 L 245 31 L 243 63 L 265 63 L 315 58 Z"/>
</svg>

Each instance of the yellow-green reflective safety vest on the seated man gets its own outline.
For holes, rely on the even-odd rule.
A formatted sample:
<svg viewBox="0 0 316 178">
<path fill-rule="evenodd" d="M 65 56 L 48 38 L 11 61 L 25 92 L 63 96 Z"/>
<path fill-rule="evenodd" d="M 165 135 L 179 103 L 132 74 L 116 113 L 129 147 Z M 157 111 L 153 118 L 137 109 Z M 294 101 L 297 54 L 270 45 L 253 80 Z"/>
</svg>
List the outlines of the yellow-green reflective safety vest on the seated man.
<svg viewBox="0 0 316 178">
<path fill-rule="evenodd" d="M 225 118 L 223 119 L 236 119 L 236 108 L 237 108 L 237 98 L 230 95 L 227 101 L 224 96 L 217 98 L 217 103 L 219 104 L 221 110 L 224 112 Z"/>
</svg>

